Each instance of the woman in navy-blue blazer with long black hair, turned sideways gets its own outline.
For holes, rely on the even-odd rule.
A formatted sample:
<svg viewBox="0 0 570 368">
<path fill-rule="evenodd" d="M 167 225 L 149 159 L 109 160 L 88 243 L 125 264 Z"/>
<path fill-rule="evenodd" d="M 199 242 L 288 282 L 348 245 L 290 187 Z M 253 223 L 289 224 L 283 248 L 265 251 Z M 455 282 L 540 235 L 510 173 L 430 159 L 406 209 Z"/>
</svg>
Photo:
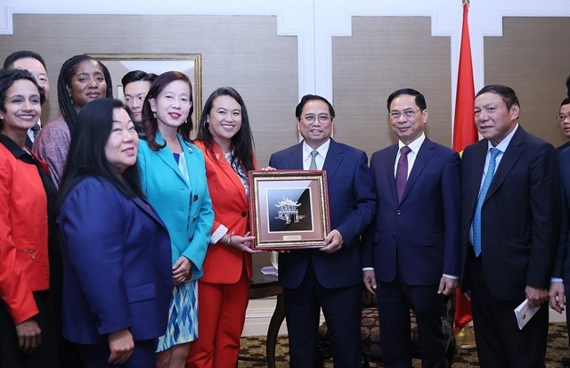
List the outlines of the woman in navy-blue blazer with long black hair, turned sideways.
<svg viewBox="0 0 570 368">
<path fill-rule="evenodd" d="M 63 334 L 86 368 L 154 368 L 172 284 L 167 228 L 143 199 L 128 108 L 88 102 L 77 122 L 60 199 Z"/>
</svg>

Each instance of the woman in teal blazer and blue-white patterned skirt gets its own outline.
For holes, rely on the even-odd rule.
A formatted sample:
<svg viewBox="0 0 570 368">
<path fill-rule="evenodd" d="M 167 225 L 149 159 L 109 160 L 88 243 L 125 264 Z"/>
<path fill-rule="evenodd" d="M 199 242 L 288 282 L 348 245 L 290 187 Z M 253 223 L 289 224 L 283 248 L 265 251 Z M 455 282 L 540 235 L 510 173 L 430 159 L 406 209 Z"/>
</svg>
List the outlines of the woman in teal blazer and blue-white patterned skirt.
<svg viewBox="0 0 570 368">
<path fill-rule="evenodd" d="M 214 211 L 201 151 L 188 142 L 192 128 L 190 80 L 168 71 L 152 83 L 142 107 L 138 164 L 142 191 L 167 225 L 174 288 L 157 366 L 183 368 L 198 337 L 197 279 L 208 249 Z"/>
</svg>

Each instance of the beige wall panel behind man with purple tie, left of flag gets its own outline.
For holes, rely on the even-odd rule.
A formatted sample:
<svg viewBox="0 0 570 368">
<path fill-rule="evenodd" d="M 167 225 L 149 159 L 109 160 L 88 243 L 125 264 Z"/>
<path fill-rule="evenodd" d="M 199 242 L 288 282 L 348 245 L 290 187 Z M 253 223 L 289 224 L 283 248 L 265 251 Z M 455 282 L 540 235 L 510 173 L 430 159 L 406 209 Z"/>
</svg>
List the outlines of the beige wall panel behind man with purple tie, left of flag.
<svg viewBox="0 0 570 368">
<path fill-rule="evenodd" d="M 333 37 L 335 138 L 372 152 L 396 143 L 387 96 L 426 96 L 430 139 L 452 144 L 450 38 L 431 37 L 429 17 L 353 17 L 352 37 Z"/>
</svg>

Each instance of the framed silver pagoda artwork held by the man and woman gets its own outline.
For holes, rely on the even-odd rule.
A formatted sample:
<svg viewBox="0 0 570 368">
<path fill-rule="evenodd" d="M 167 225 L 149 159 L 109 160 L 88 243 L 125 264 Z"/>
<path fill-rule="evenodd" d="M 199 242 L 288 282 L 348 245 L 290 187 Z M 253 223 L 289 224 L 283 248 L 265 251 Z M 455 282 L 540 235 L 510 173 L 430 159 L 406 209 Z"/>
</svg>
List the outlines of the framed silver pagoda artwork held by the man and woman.
<svg viewBox="0 0 570 368">
<path fill-rule="evenodd" d="M 330 232 L 324 171 L 251 171 L 249 188 L 254 248 L 324 246 Z"/>
</svg>

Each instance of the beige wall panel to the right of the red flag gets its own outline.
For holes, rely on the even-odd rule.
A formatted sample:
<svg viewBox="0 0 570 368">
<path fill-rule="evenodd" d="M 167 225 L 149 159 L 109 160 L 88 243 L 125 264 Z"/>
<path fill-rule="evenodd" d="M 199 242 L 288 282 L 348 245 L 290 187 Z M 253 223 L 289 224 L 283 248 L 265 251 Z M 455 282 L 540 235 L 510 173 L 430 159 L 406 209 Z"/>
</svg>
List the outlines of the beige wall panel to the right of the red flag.
<svg viewBox="0 0 570 368">
<path fill-rule="evenodd" d="M 485 85 L 506 85 L 517 93 L 520 123 L 558 146 L 560 102 L 570 75 L 570 18 L 504 18 L 502 37 L 485 37 Z"/>
</svg>

